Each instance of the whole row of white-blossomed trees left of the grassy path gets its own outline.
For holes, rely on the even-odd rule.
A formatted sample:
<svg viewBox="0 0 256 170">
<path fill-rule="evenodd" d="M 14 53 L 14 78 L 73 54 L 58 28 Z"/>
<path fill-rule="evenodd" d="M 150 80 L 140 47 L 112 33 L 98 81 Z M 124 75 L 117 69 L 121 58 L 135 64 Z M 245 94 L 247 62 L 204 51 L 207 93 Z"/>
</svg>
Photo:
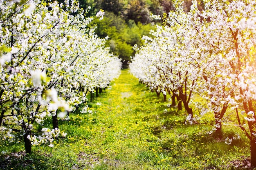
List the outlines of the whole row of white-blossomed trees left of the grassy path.
<svg viewBox="0 0 256 170">
<path fill-rule="evenodd" d="M 66 135 L 57 122 L 44 128 L 45 119 L 65 117 L 86 100 L 86 89 L 104 87 L 120 73 L 120 60 L 86 27 L 93 18 L 70 15 L 79 4 L 65 3 L 0 1 L 0 132 L 10 142 L 23 136 L 26 153 L 31 144 L 52 147 Z"/>
</svg>

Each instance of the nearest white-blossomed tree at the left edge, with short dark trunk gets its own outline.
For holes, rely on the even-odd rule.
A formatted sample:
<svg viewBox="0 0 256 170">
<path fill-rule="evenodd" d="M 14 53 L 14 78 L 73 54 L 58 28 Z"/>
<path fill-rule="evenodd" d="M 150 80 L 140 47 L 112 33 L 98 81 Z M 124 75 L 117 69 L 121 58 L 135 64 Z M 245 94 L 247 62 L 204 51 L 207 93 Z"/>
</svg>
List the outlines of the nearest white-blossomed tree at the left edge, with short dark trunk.
<svg viewBox="0 0 256 170">
<path fill-rule="evenodd" d="M 57 92 L 47 89 L 49 79 L 43 72 L 47 67 L 40 46 L 47 42 L 47 37 L 58 26 L 58 21 L 49 20 L 52 15 L 45 15 L 48 22 L 39 22 L 42 19 L 36 12 L 36 5 L 43 11 L 47 7 L 34 1 L 29 2 L 2 2 L 1 4 L 1 46 L 8 47 L 1 56 L 1 132 L 4 138 L 13 141 L 14 132 L 23 135 L 26 152 L 31 152 L 31 131 L 34 122 L 42 123 L 42 118 L 49 115 L 47 107 L 60 104 Z M 53 10 L 54 11 L 54 10 Z M 53 14 L 53 13 L 52 13 Z M 45 25 L 44 25 L 45 24 Z M 45 29 L 49 26 L 49 29 Z M 37 68 L 37 69 L 36 69 Z M 45 96 L 45 97 L 44 97 Z M 44 97 L 44 99 L 42 99 Z M 40 109 L 38 99 L 45 101 Z M 49 103 L 49 101 L 52 101 Z M 40 143 L 52 141 L 58 135 L 58 130 L 42 129 L 42 135 L 35 137 Z"/>
</svg>

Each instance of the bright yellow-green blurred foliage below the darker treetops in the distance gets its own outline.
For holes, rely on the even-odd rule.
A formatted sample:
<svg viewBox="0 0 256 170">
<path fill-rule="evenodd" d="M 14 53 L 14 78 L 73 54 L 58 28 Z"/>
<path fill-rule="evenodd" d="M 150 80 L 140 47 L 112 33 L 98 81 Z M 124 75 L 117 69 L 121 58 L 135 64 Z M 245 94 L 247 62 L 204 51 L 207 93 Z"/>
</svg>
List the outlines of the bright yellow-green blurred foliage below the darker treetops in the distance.
<svg viewBox="0 0 256 170">
<path fill-rule="evenodd" d="M 92 25 L 96 25 L 95 33 L 105 38 L 109 36 L 106 46 L 110 47 L 110 52 L 119 55 L 123 61 L 125 68 L 130 61 L 130 56 L 134 55 L 132 46 L 137 44 L 140 46 L 141 37 L 149 35 L 150 29 L 155 29 L 153 24 L 135 23 L 134 20 L 129 20 L 126 24 L 125 20 L 112 12 L 106 11 L 103 20 L 94 20 Z"/>
</svg>

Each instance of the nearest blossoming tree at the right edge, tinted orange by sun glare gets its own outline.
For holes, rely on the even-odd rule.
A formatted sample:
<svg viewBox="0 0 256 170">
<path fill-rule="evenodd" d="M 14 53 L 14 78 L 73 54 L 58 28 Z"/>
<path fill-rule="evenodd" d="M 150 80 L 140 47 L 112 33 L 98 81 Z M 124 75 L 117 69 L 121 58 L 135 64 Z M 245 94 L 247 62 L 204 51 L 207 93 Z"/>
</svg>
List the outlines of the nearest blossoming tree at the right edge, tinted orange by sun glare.
<svg viewBox="0 0 256 170">
<path fill-rule="evenodd" d="M 223 103 L 236 108 L 238 122 L 251 141 L 251 163 L 256 166 L 256 121 L 253 104 L 255 103 L 256 79 L 255 79 L 255 22 L 256 2 L 222 2 L 216 7 L 211 7 L 212 2 L 206 3 L 205 13 L 211 17 L 207 32 L 218 40 L 215 43 L 216 50 L 213 55 L 219 57 L 220 66 L 216 76 L 220 76 L 225 82 L 227 97 Z M 252 26 L 254 25 L 254 26 Z M 220 36 L 217 36 L 220 35 Z M 209 42 L 201 41 L 203 44 Z M 210 40 L 211 42 L 211 40 Z M 218 48 L 217 48 L 218 47 Z M 217 51 L 218 50 L 218 51 Z M 240 123 L 238 110 L 246 113 L 246 125 Z M 246 131 L 249 130 L 249 132 Z"/>
</svg>

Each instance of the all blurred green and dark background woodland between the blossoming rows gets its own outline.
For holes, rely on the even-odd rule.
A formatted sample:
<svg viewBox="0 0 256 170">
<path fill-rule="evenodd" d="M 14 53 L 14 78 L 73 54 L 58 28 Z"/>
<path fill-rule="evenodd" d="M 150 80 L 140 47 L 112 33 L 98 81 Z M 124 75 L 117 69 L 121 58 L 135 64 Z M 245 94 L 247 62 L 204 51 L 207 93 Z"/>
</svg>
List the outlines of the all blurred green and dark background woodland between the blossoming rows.
<svg viewBox="0 0 256 170">
<path fill-rule="evenodd" d="M 95 33 L 100 38 L 109 36 L 106 46 L 110 52 L 119 55 L 123 67 L 128 65 L 130 56 L 134 56 L 134 44 L 140 46 L 143 35 L 150 36 L 150 30 L 155 30 L 155 20 L 151 14 L 163 15 L 173 10 L 173 0 L 79 0 L 80 7 L 91 7 L 89 15 L 96 15 L 99 9 L 105 11 L 103 20 L 95 20 L 91 26 L 97 25 Z M 184 7 L 189 10 L 191 0 L 184 1 Z"/>
</svg>

